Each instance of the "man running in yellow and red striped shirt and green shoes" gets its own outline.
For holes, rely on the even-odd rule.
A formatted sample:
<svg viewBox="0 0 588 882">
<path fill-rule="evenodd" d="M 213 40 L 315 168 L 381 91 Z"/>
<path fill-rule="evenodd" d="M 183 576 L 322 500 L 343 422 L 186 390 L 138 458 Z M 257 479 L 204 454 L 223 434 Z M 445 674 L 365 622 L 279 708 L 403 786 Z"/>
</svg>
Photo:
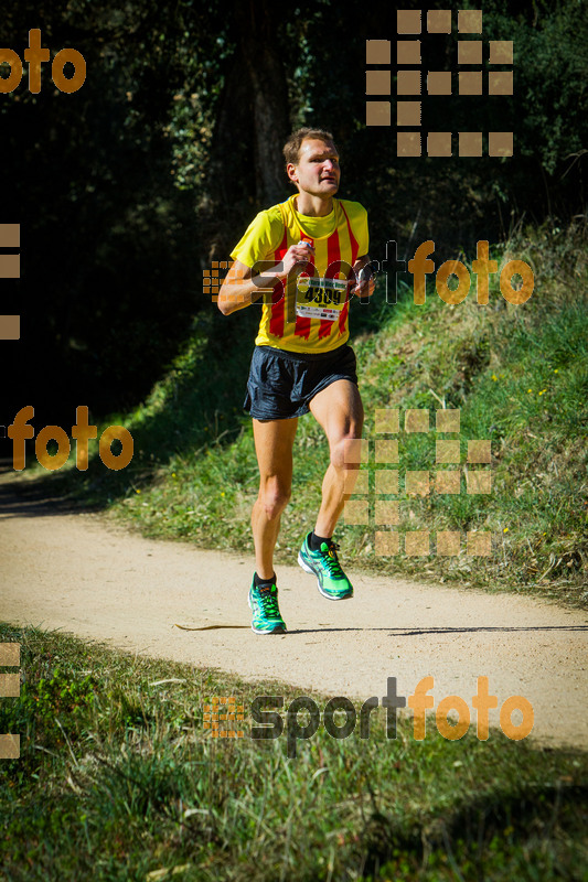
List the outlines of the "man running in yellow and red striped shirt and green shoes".
<svg viewBox="0 0 588 882">
<path fill-rule="evenodd" d="M 317 576 L 325 598 L 353 595 L 332 540 L 357 476 L 359 466 L 345 462 L 345 448 L 361 438 L 363 426 L 355 354 L 346 343 L 349 298 L 368 298 L 375 287 L 373 279 L 359 280 L 370 260 L 366 211 L 334 197 L 341 172 L 332 135 L 299 129 L 284 155 L 298 194 L 255 217 L 231 254 L 234 263 L 218 293 L 225 315 L 264 295 L 244 405 L 253 417 L 259 464 L 252 515 L 257 569 L 249 591 L 257 634 L 286 631 L 274 549 L 290 498 L 298 417 L 309 410 L 324 429 L 331 462 L 314 530 L 304 538 L 298 562 Z"/>
</svg>

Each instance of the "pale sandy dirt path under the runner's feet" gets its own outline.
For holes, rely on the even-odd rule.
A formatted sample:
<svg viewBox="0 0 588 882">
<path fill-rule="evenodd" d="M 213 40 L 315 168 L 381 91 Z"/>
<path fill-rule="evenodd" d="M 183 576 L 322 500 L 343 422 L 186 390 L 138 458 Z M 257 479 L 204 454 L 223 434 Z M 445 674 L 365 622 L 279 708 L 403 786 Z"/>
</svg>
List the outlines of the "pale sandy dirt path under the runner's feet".
<svg viewBox="0 0 588 882">
<path fill-rule="evenodd" d="M 542 741 L 588 747 L 584 612 L 356 573 L 354 599 L 333 603 L 292 566 L 278 568 L 289 633 L 256 636 L 247 606 L 252 559 L 142 539 L 98 515 L 18 494 L 17 481 L 11 472 L 0 477 L 1 621 L 246 678 L 276 677 L 300 693 L 313 687 L 382 697 L 386 678 L 396 677 L 398 695 L 409 696 L 430 675 L 436 707 L 457 695 L 471 708 L 477 678 L 485 675 L 499 708 L 512 695 L 531 701 L 533 734 Z M 498 719 L 491 711 L 491 724 Z"/>
</svg>

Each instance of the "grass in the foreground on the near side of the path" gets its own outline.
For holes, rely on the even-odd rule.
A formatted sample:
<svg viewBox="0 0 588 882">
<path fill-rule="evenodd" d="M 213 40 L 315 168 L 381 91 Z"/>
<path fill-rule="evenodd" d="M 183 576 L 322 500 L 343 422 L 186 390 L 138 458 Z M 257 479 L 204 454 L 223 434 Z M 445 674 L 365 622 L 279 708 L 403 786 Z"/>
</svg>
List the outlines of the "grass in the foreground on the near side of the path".
<svg viewBox="0 0 588 882">
<path fill-rule="evenodd" d="M 0 626 L 21 650 L 21 697 L 0 731 L 0 879 L 586 880 L 588 756 L 491 730 L 446 741 L 428 724 L 368 740 L 321 725 L 286 738 L 217 740 L 203 707 L 297 692 Z M 312 693 L 320 709 L 325 696 Z M 180 869 L 183 868 L 183 869 Z M 172 870 L 175 871 L 172 875 Z M 168 872 L 164 872 L 168 871 Z"/>
</svg>

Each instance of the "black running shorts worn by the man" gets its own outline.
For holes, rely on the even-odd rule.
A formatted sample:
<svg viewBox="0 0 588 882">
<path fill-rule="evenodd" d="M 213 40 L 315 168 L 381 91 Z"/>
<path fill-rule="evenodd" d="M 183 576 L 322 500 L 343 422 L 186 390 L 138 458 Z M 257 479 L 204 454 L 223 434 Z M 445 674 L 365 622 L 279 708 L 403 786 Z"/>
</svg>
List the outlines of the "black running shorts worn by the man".
<svg viewBox="0 0 588 882">
<path fill-rule="evenodd" d="M 256 346 L 243 407 L 256 420 L 301 417 L 331 383 L 349 379 L 357 385 L 355 366 L 355 353 L 346 343 L 318 355 Z"/>
</svg>

